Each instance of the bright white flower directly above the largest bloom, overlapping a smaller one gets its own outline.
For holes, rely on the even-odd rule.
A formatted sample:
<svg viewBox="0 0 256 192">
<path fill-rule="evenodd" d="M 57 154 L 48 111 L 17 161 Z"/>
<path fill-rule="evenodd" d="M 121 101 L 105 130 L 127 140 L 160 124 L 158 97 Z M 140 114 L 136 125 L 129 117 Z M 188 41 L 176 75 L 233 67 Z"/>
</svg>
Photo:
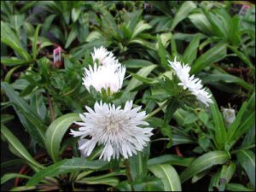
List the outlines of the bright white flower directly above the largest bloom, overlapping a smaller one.
<svg viewBox="0 0 256 192">
<path fill-rule="evenodd" d="M 121 65 L 97 66 L 95 63 L 93 68 L 89 66 L 89 70 L 84 68 L 83 84 L 88 91 L 92 85 L 97 91 L 109 88 L 112 94 L 122 88 L 125 70 L 126 68 Z"/>
</svg>

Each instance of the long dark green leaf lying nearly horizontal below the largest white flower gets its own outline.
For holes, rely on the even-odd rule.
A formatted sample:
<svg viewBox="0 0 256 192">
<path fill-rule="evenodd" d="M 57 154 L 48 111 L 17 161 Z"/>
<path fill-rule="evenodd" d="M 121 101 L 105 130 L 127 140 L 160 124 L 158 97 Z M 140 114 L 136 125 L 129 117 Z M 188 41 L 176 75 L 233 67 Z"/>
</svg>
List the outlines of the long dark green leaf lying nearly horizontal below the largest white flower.
<svg viewBox="0 0 256 192">
<path fill-rule="evenodd" d="M 104 160 L 86 160 L 84 158 L 73 158 L 61 160 L 55 164 L 46 167 L 44 170 L 37 172 L 26 183 L 26 186 L 38 184 L 44 177 L 55 177 L 67 172 L 79 172 L 85 170 L 106 170 L 108 169 L 108 161 Z"/>
</svg>

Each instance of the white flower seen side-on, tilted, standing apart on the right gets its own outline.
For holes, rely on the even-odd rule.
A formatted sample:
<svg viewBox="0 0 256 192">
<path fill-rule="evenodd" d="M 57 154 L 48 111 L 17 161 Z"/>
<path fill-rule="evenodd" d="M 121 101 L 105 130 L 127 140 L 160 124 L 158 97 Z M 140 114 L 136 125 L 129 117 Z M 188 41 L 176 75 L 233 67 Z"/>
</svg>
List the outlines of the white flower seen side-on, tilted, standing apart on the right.
<svg viewBox="0 0 256 192">
<path fill-rule="evenodd" d="M 194 75 L 189 77 L 190 67 L 188 64 L 184 65 L 181 62 L 176 61 L 176 58 L 173 62 L 169 61 L 169 63 L 174 69 L 178 79 L 181 81 L 181 83 L 178 83 L 178 85 L 183 86 L 184 90 L 188 89 L 200 102 L 204 103 L 205 105 L 208 106 L 209 103 L 212 103 L 212 95 L 208 94 L 207 90 L 203 88 L 201 79 L 195 78 Z"/>
</svg>

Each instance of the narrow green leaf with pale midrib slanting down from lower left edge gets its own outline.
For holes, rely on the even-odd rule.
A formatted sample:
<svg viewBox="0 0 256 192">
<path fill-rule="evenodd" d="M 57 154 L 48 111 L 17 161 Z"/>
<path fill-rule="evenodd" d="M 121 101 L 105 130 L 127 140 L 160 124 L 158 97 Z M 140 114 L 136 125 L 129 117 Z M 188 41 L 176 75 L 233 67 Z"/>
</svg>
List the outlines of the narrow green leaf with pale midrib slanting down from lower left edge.
<svg viewBox="0 0 256 192">
<path fill-rule="evenodd" d="M 15 137 L 15 135 L 11 131 L 9 131 L 9 129 L 3 124 L 1 124 L 1 134 L 7 140 L 9 146 L 15 149 L 15 155 L 19 156 L 24 160 L 27 160 L 27 162 L 30 163 L 32 167 L 35 168 L 35 170 L 37 171 L 39 170 L 39 168 L 43 168 L 43 166 L 40 165 L 36 160 L 34 160 L 31 154 L 27 152 L 26 148 L 23 146 L 22 143 L 20 143 L 19 139 Z"/>
</svg>

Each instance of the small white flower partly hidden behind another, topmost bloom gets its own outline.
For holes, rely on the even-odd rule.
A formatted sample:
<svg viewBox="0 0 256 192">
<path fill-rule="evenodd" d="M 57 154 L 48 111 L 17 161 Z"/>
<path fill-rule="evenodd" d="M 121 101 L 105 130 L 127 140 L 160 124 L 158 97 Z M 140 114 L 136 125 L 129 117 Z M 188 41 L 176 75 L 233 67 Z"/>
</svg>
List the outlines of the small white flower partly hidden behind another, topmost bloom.
<svg viewBox="0 0 256 192">
<path fill-rule="evenodd" d="M 91 56 L 94 62 L 98 60 L 99 64 L 102 65 L 119 64 L 119 61 L 113 56 L 113 53 L 103 46 L 100 48 L 94 48 L 94 52 L 91 53 Z"/>
</svg>

